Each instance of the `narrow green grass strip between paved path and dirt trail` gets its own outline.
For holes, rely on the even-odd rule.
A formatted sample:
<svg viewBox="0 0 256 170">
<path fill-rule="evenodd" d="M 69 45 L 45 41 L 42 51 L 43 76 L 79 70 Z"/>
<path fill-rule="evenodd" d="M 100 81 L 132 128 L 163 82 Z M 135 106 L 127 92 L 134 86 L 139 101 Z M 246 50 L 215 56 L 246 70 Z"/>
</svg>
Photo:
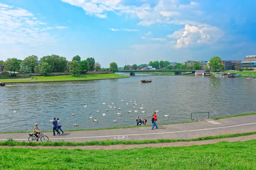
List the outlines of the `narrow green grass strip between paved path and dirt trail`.
<svg viewBox="0 0 256 170">
<path fill-rule="evenodd" d="M 13 139 L 0 142 L 0 146 L 93 146 L 93 145 L 116 145 L 116 144 L 156 144 L 156 143 L 170 143 L 170 142 L 189 142 L 189 141 L 204 141 L 212 139 L 232 138 L 238 136 L 248 136 L 256 134 L 256 132 L 249 133 L 236 133 L 219 136 L 206 136 L 196 139 L 157 139 L 157 140 L 143 140 L 143 141 L 119 141 L 119 140 L 106 140 L 106 141 L 90 141 L 90 142 L 17 142 Z"/>
</svg>

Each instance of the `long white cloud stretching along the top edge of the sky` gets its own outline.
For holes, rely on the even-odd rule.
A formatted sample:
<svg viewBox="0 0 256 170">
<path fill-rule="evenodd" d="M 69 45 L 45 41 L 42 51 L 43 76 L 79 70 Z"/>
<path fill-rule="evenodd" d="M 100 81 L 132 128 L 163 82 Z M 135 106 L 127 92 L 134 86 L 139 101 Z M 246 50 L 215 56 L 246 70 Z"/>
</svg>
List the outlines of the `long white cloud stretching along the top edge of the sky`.
<svg viewBox="0 0 256 170">
<path fill-rule="evenodd" d="M 116 14 L 129 15 L 140 19 L 139 25 L 149 26 L 154 23 L 182 24 L 186 17 L 189 23 L 195 21 L 195 14 L 200 15 L 198 3 L 191 2 L 182 4 L 179 0 L 157 0 L 150 4 L 151 0 L 143 0 L 141 6 L 127 6 L 121 0 L 61 0 L 64 3 L 82 8 L 86 14 L 100 18 L 106 18 L 107 13 L 112 11 Z M 197 11 L 197 12 L 195 12 Z M 193 14 L 193 16 L 191 16 Z M 187 19 L 186 19 L 187 20 Z"/>
</svg>

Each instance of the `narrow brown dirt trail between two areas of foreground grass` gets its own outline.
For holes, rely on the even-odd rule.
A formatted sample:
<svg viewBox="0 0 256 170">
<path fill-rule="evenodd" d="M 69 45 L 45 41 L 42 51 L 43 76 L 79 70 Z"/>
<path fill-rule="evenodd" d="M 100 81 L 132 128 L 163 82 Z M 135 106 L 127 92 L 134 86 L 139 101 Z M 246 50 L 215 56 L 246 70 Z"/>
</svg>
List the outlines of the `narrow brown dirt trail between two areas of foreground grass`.
<svg viewBox="0 0 256 170">
<path fill-rule="evenodd" d="M 191 141 L 191 142 L 172 142 L 172 143 L 157 143 L 157 144 L 117 144 L 110 146 L 61 146 L 61 147 L 43 147 L 43 146 L 15 146 L 15 148 L 40 148 L 40 149 L 84 149 L 84 150 L 121 150 L 121 149 L 133 149 L 133 148 L 143 148 L 143 147 L 180 147 L 180 146 L 192 146 L 192 145 L 203 145 L 203 144 L 215 144 L 218 142 L 226 141 L 226 142 L 238 142 L 238 141 L 249 141 L 252 139 L 256 139 L 255 135 L 250 136 L 239 136 L 234 138 L 222 138 L 222 139 L 212 139 L 212 140 L 204 140 L 204 141 Z M 12 148 L 11 146 L 0 146 L 0 148 Z"/>
</svg>

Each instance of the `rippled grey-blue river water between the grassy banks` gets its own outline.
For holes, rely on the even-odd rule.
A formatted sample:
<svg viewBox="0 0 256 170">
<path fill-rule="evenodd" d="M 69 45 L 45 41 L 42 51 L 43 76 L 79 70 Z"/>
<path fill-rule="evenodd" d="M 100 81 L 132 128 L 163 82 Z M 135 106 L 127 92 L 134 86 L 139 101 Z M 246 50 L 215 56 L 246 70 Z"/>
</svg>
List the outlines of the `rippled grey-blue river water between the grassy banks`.
<svg viewBox="0 0 256 170">
<path fill-rule="evenodd" d="M 141 79 L 153 81 L 140 83 Z M 125 79 L 14 83 L 0 87 L 0 99 L 1 132 L 33 130 L 35 123 L 40 129 L 52 130 L 52 117 L 60 118 L 63 130 L 133 126 L 137 116 L 151 125 L 155 110 L 159 110 L 157 124 L 189 121 L 191 112 L 210 112 L 210 119 L 256 112 L 256 80 L 136 74 Z M 112 109 L 106 112 L 111 102 Z M 144 109 L 140 110 L 142 104 Z M 119 107 L 121 115 L 116 115 Z M 169 118 L 164 116 L 168 113 Z M 88 119 L 91 115 L 98 123 Z M 193 114 L 192 118 L 208 119 L 208 114 Z M 75 123 L 79 126 L 74 127 Z"/>
</svg>

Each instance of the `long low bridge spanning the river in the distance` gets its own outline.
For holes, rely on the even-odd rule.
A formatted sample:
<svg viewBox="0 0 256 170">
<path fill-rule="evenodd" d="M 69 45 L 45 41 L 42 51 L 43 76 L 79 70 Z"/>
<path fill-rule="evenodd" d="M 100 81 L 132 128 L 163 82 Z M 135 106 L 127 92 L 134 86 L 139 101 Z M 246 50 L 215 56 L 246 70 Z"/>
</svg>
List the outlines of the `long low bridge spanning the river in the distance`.
<svg viewBox="0 0 256 170">
<path fill-rule="evenodd" d="M 181 75 L 181 73 L 185 73 L 185 72 L 190 72 L 190 74 L 194 74 L 196 70 L 120 70 L 118 72 L 120 73 L 130 73 L 130 76 L 135 76 L 135 73 L 140 73 L 140 72 L 144 72 L 144 73 L 150 73 L 150 72 L 157 72 L 157 71 L 161 71 L 161 72 L 174 72 L 175 75 Z"/>
</svg>

